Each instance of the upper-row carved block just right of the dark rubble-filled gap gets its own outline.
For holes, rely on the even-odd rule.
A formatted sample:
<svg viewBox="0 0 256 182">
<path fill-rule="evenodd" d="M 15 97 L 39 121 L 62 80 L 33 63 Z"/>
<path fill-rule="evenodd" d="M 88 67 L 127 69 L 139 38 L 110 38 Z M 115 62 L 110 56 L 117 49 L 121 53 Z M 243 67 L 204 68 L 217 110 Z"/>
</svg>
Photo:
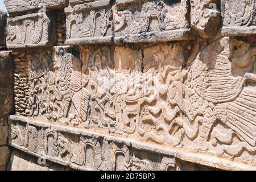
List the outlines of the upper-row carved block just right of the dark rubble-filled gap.
<svg viewBox="0 0 256 182">
<path fill-rule="evenodd" d="M 79 1 L 65 9 L 67 44 L 99 44 L 113 41 L 113 18 L 110 0 Z M 84 3 L 82 3 L 84 2 Z"/>
</svg>

